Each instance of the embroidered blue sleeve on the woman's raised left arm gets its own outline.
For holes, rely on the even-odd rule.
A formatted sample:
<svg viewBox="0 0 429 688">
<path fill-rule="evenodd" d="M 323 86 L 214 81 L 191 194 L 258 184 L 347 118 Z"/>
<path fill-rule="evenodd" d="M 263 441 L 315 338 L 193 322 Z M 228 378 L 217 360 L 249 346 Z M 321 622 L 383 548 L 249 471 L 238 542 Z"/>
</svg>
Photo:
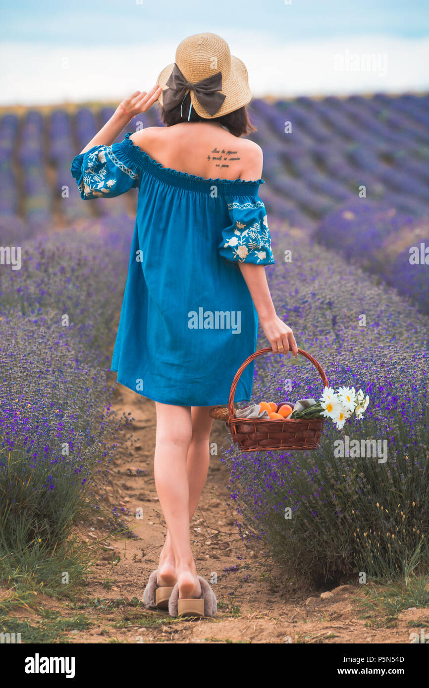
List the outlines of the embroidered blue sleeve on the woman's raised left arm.
<svg viewBox="0 0 429 688">
<path fill-rule="evenodd" d="M 83 200 L 113 198 L 138 186 L 138 167 L 129 158 L 129 142 L 94 146 L 72 162 L 72 175 Z"/>
</svg>

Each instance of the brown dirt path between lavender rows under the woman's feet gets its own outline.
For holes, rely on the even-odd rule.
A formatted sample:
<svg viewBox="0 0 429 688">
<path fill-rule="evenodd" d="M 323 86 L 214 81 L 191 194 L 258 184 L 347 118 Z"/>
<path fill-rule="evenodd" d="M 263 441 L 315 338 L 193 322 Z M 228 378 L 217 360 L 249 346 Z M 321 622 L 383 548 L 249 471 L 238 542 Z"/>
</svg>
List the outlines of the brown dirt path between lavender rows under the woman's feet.
<svg viewBox="0 0 429 688">
<path fill-rule="evenodd" d="M 362 590 L 340 586 L 328 599 L 320 591 L 276 587 L 266 566 L 238 536 L 237 515 L 229 506 L 227 467 L 216 455 L 200 506 L 191 524 L 193 552 L 199 571 L 215 580 L 218 598 L 216 619 L 180 621 L 167 612 L 136 607 L 145 584 L 157 566 L 165 524 L 156 497 L 153 475 L 155 404 L 118 385 L 121 399 L 116 409 L 134 416 L 132 431 L 138 442 L 124 446 L 112 466 L 112 479 L 105 490 L 111 508 L 123 510 L 125 522 L 138 539 L 114 539 L 105 544 L 92 578 L 85 587 L 92 627 L 67 634 L 79 643 L 410 643 L 410 621 L 427 619 L 429 610 L 403 612 L 398 621 L 366 614 L 356 596 Z M 212 442 L 227 447 L 224 424 L 213 423 Z M 137 509 L 141 517 L 137 518 Z M 102 522 L 100 522 L 102 525 Z M 105 537 L 103 528 L 82 533 L 87 541 Z M 120 555 L 120 559 L 118 559 Z M 112 565 L 112 559 L 118 563 Z M 107 561 L 109 560 L 109 561 Z M 132 599 L 134 599 L 134 602 Z M 310 598 L 310 599 L 308 599 Z M 79 606 L 78 606 L 79 609 Z"/>
</svg>

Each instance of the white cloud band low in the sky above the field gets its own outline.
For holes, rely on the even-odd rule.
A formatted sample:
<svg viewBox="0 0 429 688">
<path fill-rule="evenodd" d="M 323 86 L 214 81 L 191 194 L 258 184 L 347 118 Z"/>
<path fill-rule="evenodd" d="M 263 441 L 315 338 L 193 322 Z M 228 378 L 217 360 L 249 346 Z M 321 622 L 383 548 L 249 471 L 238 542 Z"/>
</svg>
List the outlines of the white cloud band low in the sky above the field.
<svg viewBox="0 0 429 688">
<path fill-rule="evenodd" d="M 429 38 L 353 36 L 280 44 L 273 36 L 240 31 L 227 36 L 233 54 L 247 66 L 255 97 L 421 91 L 428 88 Z M 159 72 L 174 61 L 176 43 L 142 45 L 44 45 L 7 42 L 0 48 L 3 74 L 0 103 L 42 105 L 81 100 L 116 102 L 135 90 L 149 90 Z M 387 66 L 351 71 L 351 56 L 378 54 Z M 345 59 L 343 72 L 335 56 Z M 386 56 L 386 58 L 384 58 Z M 68 66 L 65 66 L 65 59 Z M 382 63 L 380 63 L 382 64 Z"/>
</svg>

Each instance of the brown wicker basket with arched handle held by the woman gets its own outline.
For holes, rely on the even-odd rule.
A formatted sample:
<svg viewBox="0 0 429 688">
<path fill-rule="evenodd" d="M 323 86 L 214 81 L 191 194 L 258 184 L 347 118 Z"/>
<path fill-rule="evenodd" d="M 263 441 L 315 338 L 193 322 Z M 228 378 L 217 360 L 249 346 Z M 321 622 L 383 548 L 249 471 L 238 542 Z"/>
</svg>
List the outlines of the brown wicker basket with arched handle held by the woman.
<svg viewBox="0 0 429 688">
<path fill-rule="evenodd" d="M 320 443 L 324 418 L 291 418 L 290 420 L 279 420 L 271 418 L 235 418 L 234 417 L 234 394 L 240 375 L 244 368 L 249 365 L 253 358 L 273 352 L 271 347 L 265 347 L 255 352 L 240 365 L 236 376 L 231 385 L 228 405 L 229 427 L 233 441 L 237 442 L 240 451 L 268 451 L 270 449 L 289 450 L 289 449 L 316 449 Z M 322 378 L 324 387 L 328 387 L 324 369 L 313 356 L 306 351 L 298 349 L 298 354 L 308 358 L 313 363 L 315 369 Z M 283 356 L 284 354 L 282 354 Z"/>
</svg>

